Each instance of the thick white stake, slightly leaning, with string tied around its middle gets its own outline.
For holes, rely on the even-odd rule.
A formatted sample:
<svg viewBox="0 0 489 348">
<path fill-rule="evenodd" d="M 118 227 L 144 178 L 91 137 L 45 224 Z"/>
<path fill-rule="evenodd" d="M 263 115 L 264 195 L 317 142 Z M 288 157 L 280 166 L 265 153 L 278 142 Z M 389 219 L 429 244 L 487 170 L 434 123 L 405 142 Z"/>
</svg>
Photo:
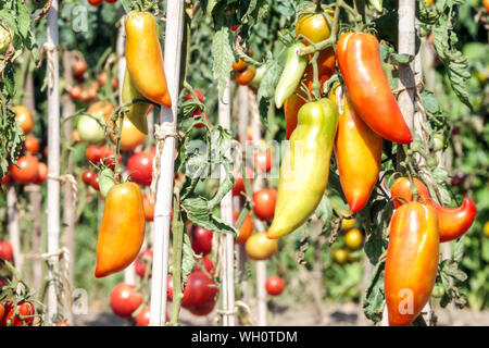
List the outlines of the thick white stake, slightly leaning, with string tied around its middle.
<svg viewBox="0 0 489 348">
<path fill-rule="evenodd" d="M 161 108 L 160 123 L 177 122 L 177 101 L 180 77 L 181 40 L 184 37 L 184 1 L 166 2 L 165 73 L 172 109 Z M 168 278 L 170 214 L 173 200 L 175 138 L 167 137 L 160 159 L 154 206 L 154 259 L 151 279 L 150 325 L 166 321 L 166 288 Z"/>
</svg>

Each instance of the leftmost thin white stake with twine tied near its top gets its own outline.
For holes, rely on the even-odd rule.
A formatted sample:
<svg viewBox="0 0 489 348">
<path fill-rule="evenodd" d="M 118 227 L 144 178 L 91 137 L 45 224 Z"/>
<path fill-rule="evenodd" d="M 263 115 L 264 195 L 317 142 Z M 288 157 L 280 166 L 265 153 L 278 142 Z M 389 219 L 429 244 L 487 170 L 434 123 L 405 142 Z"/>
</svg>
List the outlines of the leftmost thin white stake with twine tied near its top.
<svg viewBox="0 0 489 348">
<path fill-rule="evenodd" d="M 52 0 L 48 13 L 47 36 L 47 74 L 48 74 L 48 253 L 53 254 L 49 262 L 52 269 L 49 278 L 58 274 L 57 254 L 60 249 L 60 182 L 53 177 L 60 176 L 60 90 L 59 90 L 59 54 L 58 54 L 58 0 Z M 48 288 L 48 318 L 58 313 L 57 287 L 53 282 Z"/>
</svg>

